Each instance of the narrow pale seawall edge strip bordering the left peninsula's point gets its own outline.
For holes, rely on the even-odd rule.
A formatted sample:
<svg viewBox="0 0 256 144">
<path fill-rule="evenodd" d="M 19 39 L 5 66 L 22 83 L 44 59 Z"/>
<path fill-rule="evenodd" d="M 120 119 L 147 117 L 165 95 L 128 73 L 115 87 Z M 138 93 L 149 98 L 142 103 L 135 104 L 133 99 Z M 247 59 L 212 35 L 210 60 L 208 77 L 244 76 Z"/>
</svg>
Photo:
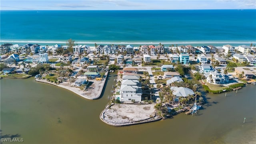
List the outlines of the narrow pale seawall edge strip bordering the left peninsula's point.
<svg viewBox="0 0 256 144">
<path fill-rule="evenodd" d="M 93 97 L 90 97 L 88 95 L 84 95 L 84 93 L 85 93 L 84 90 L 80 90 L 79 88 L 70 87 L 70 86 L 64 86 L 62 84 L 54 84 L 52 82 L 48 82 L 47 80 L 39 80 L 38 78 L 36 78 L 36 81 L 37 82 L 43 82 L 43 83 L 46 83 L 46 84 L 52 84 L 54 86 L 58 86 L 60 88 L 64 88 L 64 89 L 69 90 L 69 91 L 77 94 L 78 96 L 81 96 L 81 97 L 86 98 L 88 100 L 96 100 L 96 99 L 100 98 L 100 96 L 102 94 L 102 90 L 103 90 L 103 88 L 104 88 L 104 86 L 106 84 L 107 78 L 108 78 L 108 72 L 106 73 L 106 78 L 104 79 L 104 82 L 103 82 L 103 85 L 100 88 L 100 91 L 97 91 L 98 92 L 97 95 L 95 95 Z M 81 92 L 82 92 L 82 94 L 81 94 Z"/>
</svg>

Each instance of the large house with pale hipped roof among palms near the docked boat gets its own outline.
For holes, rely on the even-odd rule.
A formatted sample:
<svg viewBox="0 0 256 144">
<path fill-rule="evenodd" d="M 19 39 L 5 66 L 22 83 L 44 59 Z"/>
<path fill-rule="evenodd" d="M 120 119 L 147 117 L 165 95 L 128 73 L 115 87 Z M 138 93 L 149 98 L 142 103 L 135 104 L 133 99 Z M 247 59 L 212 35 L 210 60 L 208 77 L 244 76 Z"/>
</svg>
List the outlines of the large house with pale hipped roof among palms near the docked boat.
<svg viewBox="0 0 256 144">
<path fill-rule="evenodd" d="M 172 94 L 175 95 L 175 100 L 176 102 L 179 101 L 180 97 L 187 97 L 189 95 L 194 95 L 195 93 L 193 90 L 189 88 L 184 88 L 184 87 L 177 87 L 177 86 L 171 86 L 170 89 L 172 90 Z"/>
</svg>

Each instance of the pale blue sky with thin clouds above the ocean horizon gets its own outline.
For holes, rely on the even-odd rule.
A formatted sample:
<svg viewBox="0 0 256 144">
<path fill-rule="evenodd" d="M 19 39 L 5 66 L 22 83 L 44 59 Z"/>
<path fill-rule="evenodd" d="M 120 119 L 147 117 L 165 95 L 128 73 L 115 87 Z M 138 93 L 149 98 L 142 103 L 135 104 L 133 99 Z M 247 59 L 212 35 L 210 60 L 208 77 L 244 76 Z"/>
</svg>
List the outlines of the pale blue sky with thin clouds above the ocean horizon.
<svg viewBox="0 0 256 144">
<path fill-rule="evenodd" d="M 0 0 L 0 10 L 256 9 L 256 0 Z"/>
</svg>

